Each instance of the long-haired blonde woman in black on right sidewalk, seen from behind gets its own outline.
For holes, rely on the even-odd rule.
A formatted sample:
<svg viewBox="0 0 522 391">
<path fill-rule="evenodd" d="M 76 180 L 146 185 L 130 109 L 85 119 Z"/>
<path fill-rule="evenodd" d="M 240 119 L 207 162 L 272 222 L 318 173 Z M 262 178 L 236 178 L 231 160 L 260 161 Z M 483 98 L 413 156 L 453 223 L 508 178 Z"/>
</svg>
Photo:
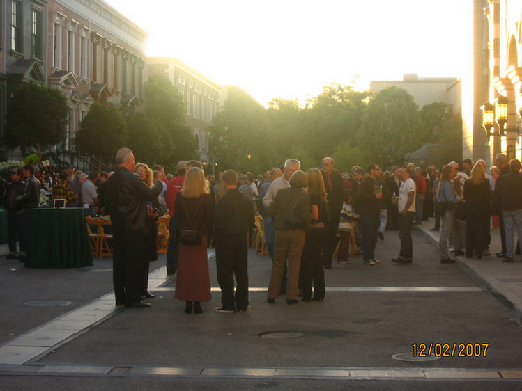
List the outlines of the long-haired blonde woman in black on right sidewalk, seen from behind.
<svg viewBox="0 0 522 391">
<path fill-rule="evenodd" d="M 470 179 L 464 182 L 464 212 L 466 215 L 466 258 L 477 258 L 487 245 L 489 231 L 489 205 L 491 185 L 486 179 L 486 170 L 482 164 L 475 164 L 471 169 Z"/>
</svg>

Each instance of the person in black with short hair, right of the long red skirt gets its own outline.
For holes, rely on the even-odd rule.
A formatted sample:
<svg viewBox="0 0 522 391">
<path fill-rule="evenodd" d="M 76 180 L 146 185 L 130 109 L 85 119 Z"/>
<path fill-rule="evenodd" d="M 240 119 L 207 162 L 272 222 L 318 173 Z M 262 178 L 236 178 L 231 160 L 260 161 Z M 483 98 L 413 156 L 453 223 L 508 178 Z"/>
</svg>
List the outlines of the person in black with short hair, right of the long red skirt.
<svg viewBox="0 0 522 391">
<path fill-rule="evenodd" d="M 227 193 L 217 199 L 214 215 L 217 282 L 222 303 L 215 312 L 231 314 L 236 310 L 245 312 L 248 307 L 247 232 L 254 225 L 254 208 L 252 200 L 238 191 L 236 171 L 226 170 L 223 183 Z"/>
</svg>

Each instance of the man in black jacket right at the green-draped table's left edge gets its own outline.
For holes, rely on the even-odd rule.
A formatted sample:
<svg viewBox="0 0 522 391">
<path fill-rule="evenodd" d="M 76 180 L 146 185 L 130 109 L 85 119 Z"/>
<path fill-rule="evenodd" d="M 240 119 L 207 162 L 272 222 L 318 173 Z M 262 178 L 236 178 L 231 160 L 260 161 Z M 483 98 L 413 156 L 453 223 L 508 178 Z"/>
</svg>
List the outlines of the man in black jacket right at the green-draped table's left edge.
<svg viewBox="0 0 522 391">
<path fill-rule="evenodd" d="M 18 260 L 25 262 L 27 242 L 29 241 L 29 224 L 31 223 L 31 209 L 40 206 L 40 181 L 34 176 L 33 166 L 22 167 L 22 178 L 25 180 L 23 196 L 17 200 L 22 204 L 22 218 L 20 221 L 20 255 Z"/>
</svg>

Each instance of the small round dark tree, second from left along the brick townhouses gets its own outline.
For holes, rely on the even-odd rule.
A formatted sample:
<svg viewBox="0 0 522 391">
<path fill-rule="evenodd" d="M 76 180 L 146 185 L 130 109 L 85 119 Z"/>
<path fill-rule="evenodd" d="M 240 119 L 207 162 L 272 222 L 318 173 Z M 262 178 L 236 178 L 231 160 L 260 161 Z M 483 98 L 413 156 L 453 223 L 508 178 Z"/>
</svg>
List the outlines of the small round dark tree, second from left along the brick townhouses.
<svg viewBox="0 0 522 391">
<path fill-rule="evenodd" d="M 94 156 L 102 162 L 111 161 L 116 151 L 127 142 L 125 121 L 119 111 L 95 103 L 79 124 L 75 145 L 78 152 Z"/>
</svg>

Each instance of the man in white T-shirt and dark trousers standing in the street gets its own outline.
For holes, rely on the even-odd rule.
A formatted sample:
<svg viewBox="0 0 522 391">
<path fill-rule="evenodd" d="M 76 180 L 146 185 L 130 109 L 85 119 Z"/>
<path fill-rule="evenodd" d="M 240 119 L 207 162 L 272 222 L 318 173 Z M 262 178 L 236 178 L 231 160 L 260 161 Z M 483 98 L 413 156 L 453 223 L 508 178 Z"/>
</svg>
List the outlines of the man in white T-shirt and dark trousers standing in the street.
<svg viewBox="0 0 522 391">
<path fill-rule="evenodd" d="M 399 237 L 401 238 L 401 251 L 399 257 L 393 258 L 392 262 L 398 264 L 409 264 L 413 258 L 413 242 L 411 240 L 411 227 L 415 218 L 415 193 L 417 186 L 410 178 L 410 170 L 407 167 L 399 169 L 399 177 L 402 180 L 399 188 Z"/>
</svg>

